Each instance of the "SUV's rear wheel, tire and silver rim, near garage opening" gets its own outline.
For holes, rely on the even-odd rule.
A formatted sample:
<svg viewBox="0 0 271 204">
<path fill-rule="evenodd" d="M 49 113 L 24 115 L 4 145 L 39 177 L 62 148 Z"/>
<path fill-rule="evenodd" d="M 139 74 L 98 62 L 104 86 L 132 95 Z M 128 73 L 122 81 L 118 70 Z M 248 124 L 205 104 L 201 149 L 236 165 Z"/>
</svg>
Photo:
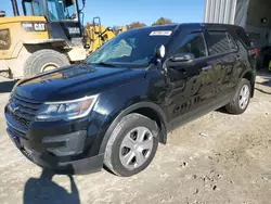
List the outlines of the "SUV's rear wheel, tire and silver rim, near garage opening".
<svg viewBox="0 0 271 204">
<path fill-rule="evenodd" d="M 246 111 L 251 95 L 251 85 L 250 82 L 243 78 L 236 89 L 235 95 L 231 103 L 225 105 L 225 110 L 231 114 L 242 114 Z"/>
</svg>

